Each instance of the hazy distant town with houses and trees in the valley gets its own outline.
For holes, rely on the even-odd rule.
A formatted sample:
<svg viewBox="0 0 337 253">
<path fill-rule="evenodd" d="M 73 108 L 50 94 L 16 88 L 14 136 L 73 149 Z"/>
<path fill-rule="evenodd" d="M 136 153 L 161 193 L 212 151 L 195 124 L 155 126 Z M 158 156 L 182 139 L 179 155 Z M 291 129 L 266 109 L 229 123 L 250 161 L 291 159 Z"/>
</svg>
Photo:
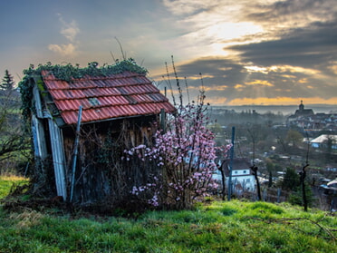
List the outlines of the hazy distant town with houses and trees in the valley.
<svg viewBox="0 0 337 253">
<path fill-rule="evenodd" d="M 265 187 L 265 199 L 275 200 L 277 193 L 270 192 L 273 188 L 287 189 L 284 184 L 289 180 L 284 179 L 289 175 L 286 174 L 292 171 L 293 180 L 297 180 L 296 175 L 308 165 L 305 167 L 308 171 L 306 180 L 312 186 L 315 198 L 323 199 L 321 203 L 328 206 L 333 202 L 332 198 L 337 203 L 337 107 L 321 105 L 314 108 L 319 112 L 305 106 L 303 101 L 297 107 L 211 108 L 214 122 L 210 128 L 216 134 L 217 145 L 231 143 L 234 138 L 233 191 L 236 194 L 255 191 L 255 186 L 251 185 L 254 177 L 250 167 L 257 166 L 262 188 L 268 186 Z M 246 167 L 243 161 L 248 164 Z"/>
</svg>

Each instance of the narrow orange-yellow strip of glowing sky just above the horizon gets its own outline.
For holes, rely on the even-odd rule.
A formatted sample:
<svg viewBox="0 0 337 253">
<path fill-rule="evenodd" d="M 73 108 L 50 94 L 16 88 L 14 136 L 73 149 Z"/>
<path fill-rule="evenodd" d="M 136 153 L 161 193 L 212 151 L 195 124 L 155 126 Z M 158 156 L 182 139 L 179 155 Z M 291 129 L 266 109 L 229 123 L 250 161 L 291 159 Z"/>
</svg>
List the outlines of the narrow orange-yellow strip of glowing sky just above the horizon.
<svg viewBox="0 0 337 253">
<path fill-rule="evenodd" d="M 291 97 L 259 97 L 259 98 L 237 98 L 230 102 L 227 102 L 227 105 L 244 105 L 244 104 L 256 104 L 256 105 L 293 105 L 297 104 L 301 98 L 291 98 Z M 314 103 L 326 103 L 326 104 L 336 104 L 337 97 L 330 99 L 323 99 L 320 97 L 307 97 L 305 98 L 306 104 Z"/>
</svg>

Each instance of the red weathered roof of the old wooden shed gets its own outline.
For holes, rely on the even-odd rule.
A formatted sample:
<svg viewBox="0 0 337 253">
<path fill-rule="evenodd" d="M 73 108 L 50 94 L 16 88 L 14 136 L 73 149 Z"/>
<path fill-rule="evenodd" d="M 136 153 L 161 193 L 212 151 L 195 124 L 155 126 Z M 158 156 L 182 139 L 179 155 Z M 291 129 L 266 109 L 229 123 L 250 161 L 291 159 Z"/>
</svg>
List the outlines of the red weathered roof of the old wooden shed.
<svg viewBox="0 0 337 253">
<path fill-rule="evenodd" d="M 86 76 L 65 82 L 43 71 L 43 82 L 67 124 L 77 122 L 82 105 L 82 122 L 174 112 L 174 106 L 149 79 L 140 73 L 118 73 L 104 77 Z"/>
</svg>

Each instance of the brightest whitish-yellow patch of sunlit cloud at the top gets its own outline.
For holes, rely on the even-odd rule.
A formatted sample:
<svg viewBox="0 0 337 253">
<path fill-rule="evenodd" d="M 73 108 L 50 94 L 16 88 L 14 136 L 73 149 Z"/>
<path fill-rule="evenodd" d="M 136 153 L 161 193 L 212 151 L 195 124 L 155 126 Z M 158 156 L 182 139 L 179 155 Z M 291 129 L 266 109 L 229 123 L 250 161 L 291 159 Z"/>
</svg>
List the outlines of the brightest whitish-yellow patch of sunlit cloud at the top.
<svg viewBox="0 0 337 253">
<path fill-rule="evenodd" d="M 230 3 L 229 3 L 230 2 Z M 244 12 L 242 1 L 224 0 L 164 0 L 163 5 L 172 15 L 177 16 L 179 29 L 184 30 L 175 44 L 184 44 L 189 55 L 229 56 L 232 52 L 224 50 L 225 45 L 254 34 L 264 32 L 262 26 L 254 22 L 240 20 Z M 254 36 L 251 39 L 256 39 Z M 251 42 L 251 40 L 248 40 Z M 248 43 L 245 40 L 245 43 Z"/>
</svg>

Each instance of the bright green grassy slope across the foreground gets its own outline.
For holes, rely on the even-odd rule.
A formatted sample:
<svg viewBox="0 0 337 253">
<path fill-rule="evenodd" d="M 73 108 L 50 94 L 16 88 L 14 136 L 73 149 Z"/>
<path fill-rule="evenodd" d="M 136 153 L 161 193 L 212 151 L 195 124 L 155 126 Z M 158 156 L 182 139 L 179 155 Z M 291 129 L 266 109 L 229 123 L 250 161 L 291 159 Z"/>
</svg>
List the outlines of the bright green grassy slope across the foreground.
<svg viewBox="0 0 337 253">
<path fill-rule="evenodd" d="M 337 219 L 286 203 L 211 201 L 138 219 L 0 209 L 0 252 L 335 252 Z"/>
</svg>

